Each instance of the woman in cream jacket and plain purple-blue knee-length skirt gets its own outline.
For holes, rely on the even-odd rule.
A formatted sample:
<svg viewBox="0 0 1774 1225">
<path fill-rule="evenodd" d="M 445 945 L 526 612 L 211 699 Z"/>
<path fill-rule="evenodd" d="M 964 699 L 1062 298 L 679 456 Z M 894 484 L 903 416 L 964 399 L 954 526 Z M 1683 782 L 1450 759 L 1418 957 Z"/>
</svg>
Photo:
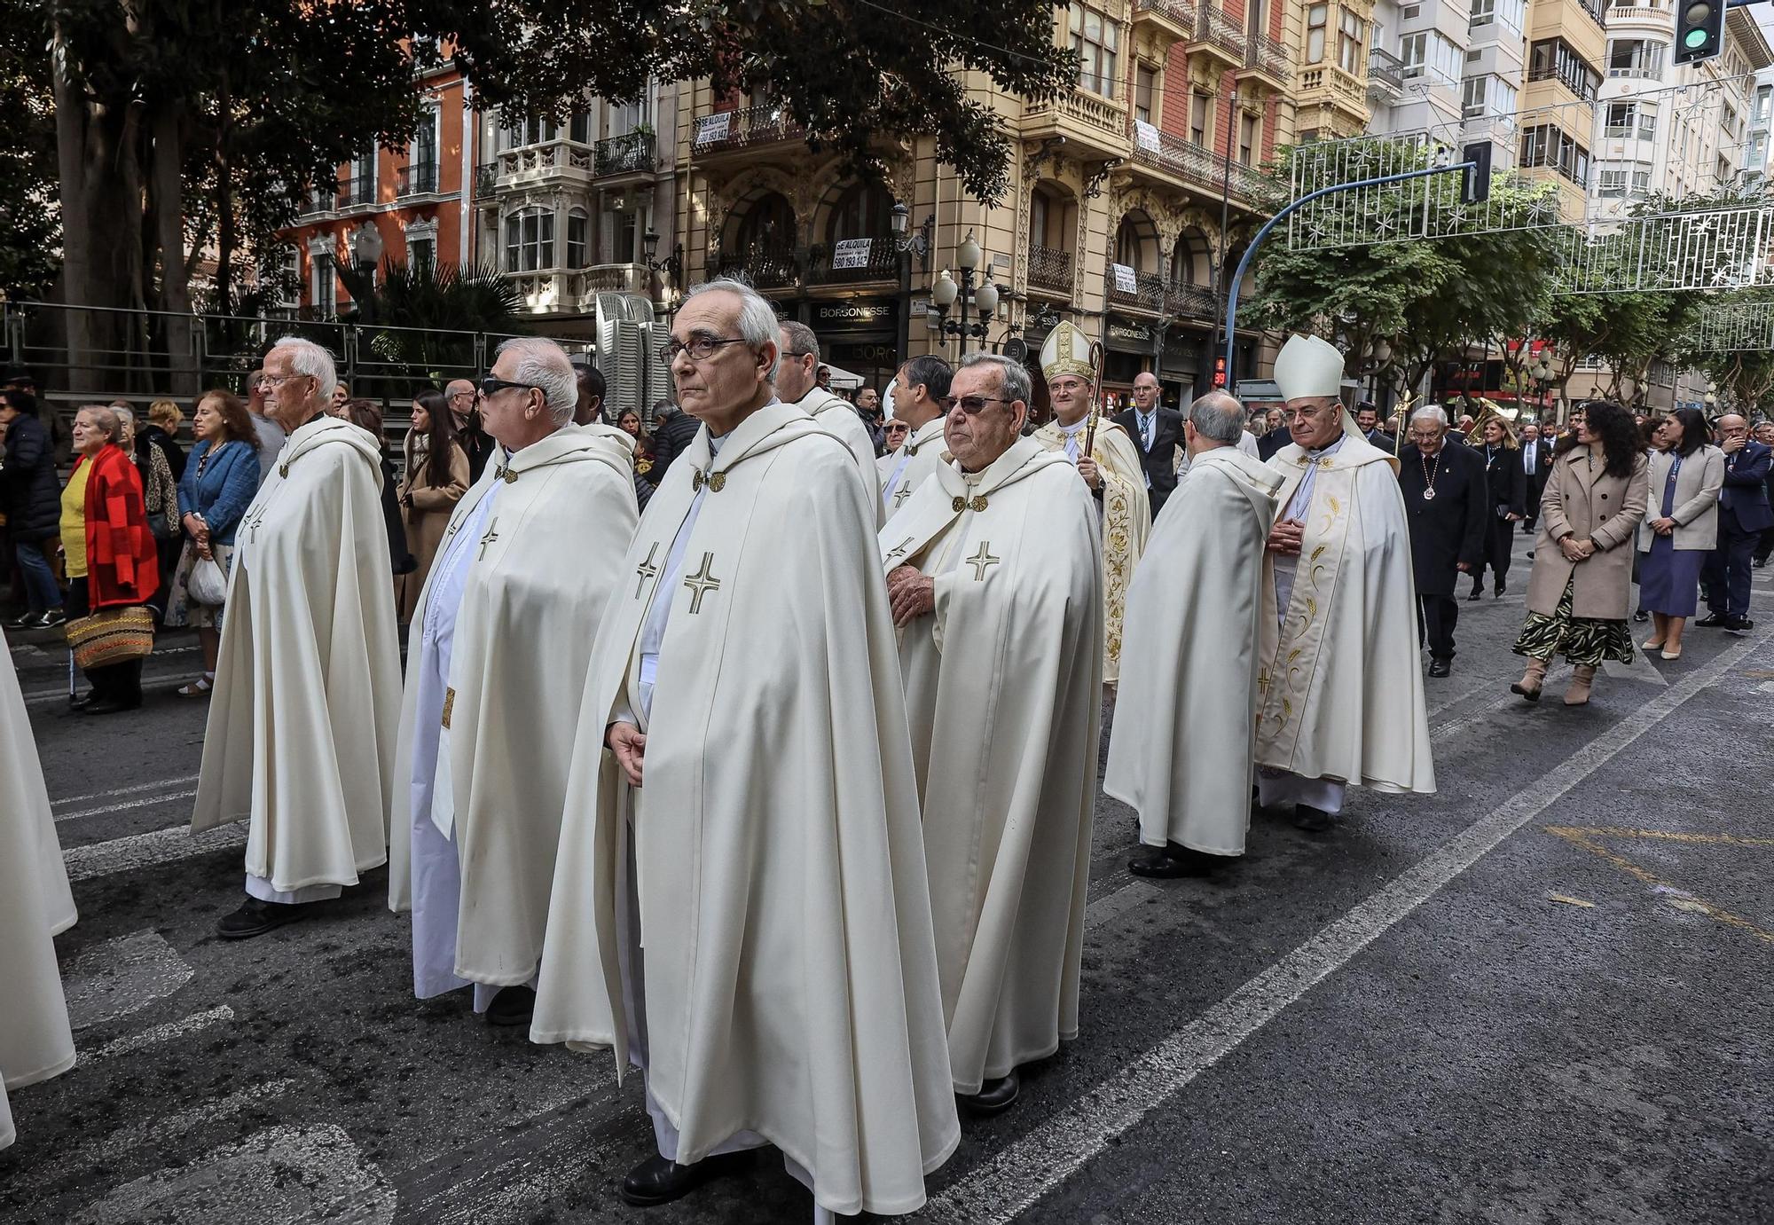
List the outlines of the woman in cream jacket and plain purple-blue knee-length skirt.
<svg viewBox="0 0 1774 1225">
<path fill-rule="evenodd" d="M 1682 628 L 1699 604 L 1699 572 L 1719 540 L 1724 451 L 1707 442 L 1707 419 L 1678 408 L 1657 426 L 1652 506 L 1639 524 L 1639 607 L 1652 614 L 1644 650 L 1682 659 Z"/>
</svg>

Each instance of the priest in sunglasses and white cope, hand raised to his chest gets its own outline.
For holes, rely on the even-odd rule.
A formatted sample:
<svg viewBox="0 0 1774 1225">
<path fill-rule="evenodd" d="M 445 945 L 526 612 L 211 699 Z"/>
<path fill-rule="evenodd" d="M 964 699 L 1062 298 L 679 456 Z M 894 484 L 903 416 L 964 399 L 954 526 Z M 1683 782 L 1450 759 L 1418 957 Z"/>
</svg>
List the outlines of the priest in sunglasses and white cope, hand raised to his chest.
<svg viewBox="0 0 1774 1225">
<path fill-rule="evenodd" d="M 1079 1033 L 1102 721 L 1102 547 L 1064 456 L 1020 431 L 1029 375 L 969 353 L 954 456 L 880 533 L 954 1092 L 1017 1101 L 1018 1065 Z"/>
</svg>

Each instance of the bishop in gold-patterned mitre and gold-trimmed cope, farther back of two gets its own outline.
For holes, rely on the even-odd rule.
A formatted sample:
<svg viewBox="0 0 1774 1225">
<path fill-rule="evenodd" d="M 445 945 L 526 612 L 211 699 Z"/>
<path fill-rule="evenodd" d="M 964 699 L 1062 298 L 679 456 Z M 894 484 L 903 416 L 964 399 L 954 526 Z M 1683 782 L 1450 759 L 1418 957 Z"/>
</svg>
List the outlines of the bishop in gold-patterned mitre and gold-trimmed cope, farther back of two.
<svg viewBox="0 0 1774 1225">
<path fill-rule="evenodd" d="M 1070 323 L 1059 323 L 1041 344 L 1041 376 L 1054 405 L 1054 419 L 1034 431 L 1048 451 L 1064 451 L 1096 502 L 1103 545 L 1103 684 L 1121 678 L 1121 620 L 1134 566 L 1151 534 L 1151 499 L 1146 469 L 1126 430 L 1096 417 L 1091 435 L 1091 405 L 1096 369 L 1091 343 Z"/>
</svg>

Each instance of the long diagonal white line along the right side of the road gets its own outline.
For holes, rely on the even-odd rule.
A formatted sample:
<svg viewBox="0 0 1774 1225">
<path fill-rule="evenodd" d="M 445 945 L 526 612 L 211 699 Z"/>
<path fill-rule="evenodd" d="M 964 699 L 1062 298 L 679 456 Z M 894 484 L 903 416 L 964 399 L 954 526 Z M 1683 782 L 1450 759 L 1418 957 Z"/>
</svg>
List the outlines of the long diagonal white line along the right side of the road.
<svg viewBox="0 0 1774 1225">
<path fill-rule="evenodd" d="M 1774 632 L 1742 643 L 1637 707 L 1613 728 L 1559 762 L 1490 817 L 1467 827 L 1440 850 L 1330 923 L 1279 962 L 1251 978 L 1205 1016 L 1141 1055 L 1125 1072 L 1061 1108 L 1031 1133 L 933 1197 L 910 1220 L 999 1225 L 1038 1204 L 1114 1140 L 1180 1094 L 1245 1039 L 1274 1021 L 1315 985 L 1346 966 L 1442 886 L 1478 863 L 1504 838 L 1535 820 L 1566 792 L 1613 762 L 1689 698 L 1715 684 Z"/>
</svg>

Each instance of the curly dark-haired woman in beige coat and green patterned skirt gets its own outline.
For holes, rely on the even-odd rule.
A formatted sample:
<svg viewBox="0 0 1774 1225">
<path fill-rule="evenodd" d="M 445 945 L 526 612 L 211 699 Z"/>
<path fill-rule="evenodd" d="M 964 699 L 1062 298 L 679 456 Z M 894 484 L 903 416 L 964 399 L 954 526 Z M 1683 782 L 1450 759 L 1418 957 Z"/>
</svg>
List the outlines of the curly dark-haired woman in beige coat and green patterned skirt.
<svg viewBox="0 0 1774 1225">
<path fill-rule="evenodd" d="M 1632 662 L 1632 540 L 1650 488 L 1630 412 L 1591 401 L 1574 423 L 1575 431 L 1552 453 L 1540 497 L 1527 621 L 1515 639 L 1527 671 L 1510 685 L 1527 701 L 1540 701 L 1547 666 L 1563 653 L 1577 669 L 1565 691 L 1566 707 L 1590 701 L 1604 659 Z"/>
</svg>

